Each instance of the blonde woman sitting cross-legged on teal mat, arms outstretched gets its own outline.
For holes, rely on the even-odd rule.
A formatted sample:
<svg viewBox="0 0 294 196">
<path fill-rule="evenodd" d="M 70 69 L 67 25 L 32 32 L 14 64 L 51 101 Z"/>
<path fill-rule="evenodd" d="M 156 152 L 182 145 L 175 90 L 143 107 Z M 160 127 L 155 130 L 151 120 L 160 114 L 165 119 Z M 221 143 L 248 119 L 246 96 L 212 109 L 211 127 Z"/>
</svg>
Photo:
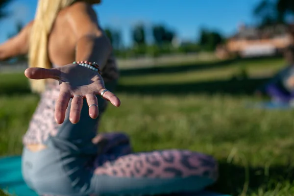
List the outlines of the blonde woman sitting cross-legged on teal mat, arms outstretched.
<svg viewBox="0 0 294 196">
<path fill-rule="evenodd" d="M 39 195 L 63 196 L 198 191 L 213 183 L 217 165 L 210 156 L 130 154 L 123 134 L 96 136 L 105 100 L 121 102 L 109 91 L 118 71 L 94 3 L 99 0 L 39 0 L 34 21 L 0 46 L 1 59 L 28 52 L 25 75 L 42 93 L 24 137 L 25 182 Z"/>
</svg>

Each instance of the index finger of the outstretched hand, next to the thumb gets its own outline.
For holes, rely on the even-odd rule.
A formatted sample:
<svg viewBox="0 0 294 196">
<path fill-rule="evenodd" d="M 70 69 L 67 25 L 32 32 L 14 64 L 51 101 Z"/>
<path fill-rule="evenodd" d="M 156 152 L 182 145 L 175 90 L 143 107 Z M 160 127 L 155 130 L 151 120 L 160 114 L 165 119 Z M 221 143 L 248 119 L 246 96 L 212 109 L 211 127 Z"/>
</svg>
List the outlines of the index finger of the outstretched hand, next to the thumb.
<svg viewBox="0 0 294 196">
<path fill-rule="evenodd" d="M 56 123 L 61 124 L 64 122 L 65 111 L 68 107 L 70 98 L 71 94 L 69 92 L 60 90 L 59 97 L 56 101 L 54 113 Z"/>
</svg>

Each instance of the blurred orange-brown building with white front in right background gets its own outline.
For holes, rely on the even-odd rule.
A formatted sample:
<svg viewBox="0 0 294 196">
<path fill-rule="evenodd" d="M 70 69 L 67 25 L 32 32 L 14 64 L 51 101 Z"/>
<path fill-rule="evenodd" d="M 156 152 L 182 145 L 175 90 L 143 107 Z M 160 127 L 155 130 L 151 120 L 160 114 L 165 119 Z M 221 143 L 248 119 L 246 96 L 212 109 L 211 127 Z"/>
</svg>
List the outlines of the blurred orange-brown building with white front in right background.
<svg viewBox="0 0 294 196">
<path fill-rule="evenodd" d="M 238 32 L 216 49 L 219 58 L 274 56 L 294 43 L 294 25 L 273 25 L 264 28 L 240 25 Z"/>
</svg>

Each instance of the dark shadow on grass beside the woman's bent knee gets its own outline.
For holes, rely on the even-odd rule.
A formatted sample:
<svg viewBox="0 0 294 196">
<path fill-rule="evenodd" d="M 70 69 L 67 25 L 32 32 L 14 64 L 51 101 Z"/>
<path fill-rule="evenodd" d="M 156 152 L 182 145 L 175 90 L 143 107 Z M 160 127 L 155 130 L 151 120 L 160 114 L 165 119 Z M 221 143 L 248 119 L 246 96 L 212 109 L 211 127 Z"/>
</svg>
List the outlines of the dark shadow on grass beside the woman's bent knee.
<svg viewBox="0 0 294 196">
<path fill-rule="evenodd" d="M 273 191 L 279 183 L 286 184 L 294 181 L 294 168 L 289 166 L 245 168 L 219 161 L 219 171 L 219 180 L 208 190 L 232 196 L 240 195 L 242 192 L 257 193 L 261 188 L 264 191 Z"/>
</svg>

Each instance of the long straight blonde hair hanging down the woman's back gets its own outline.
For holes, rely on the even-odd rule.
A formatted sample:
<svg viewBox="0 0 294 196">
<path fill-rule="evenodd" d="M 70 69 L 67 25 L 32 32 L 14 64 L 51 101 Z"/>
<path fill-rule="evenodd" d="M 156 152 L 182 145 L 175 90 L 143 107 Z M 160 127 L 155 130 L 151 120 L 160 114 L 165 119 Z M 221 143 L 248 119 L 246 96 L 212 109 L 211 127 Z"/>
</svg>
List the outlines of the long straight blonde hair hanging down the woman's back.
<svg viewBox="0 0 294 196">
<path fill-rule="evenodd" d="M 29 40 L 29 67 L 52 68 L 48 56 L 48 36 L 58 12 L 75 0 L 38 0 Z M 29 80 L 32 92 L 42 93 L 46 80 Z"/>
</svg>

